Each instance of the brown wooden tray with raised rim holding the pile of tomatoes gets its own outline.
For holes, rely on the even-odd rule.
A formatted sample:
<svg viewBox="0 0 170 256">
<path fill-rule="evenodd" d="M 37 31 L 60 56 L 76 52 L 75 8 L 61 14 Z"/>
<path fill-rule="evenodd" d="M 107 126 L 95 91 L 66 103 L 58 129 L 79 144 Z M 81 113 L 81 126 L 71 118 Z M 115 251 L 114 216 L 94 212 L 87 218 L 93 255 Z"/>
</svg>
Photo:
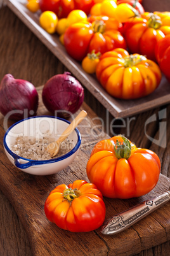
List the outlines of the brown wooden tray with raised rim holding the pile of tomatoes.
<svg viewBox="0 0 170 256">
<path fill-rule="evenodd" d="M 120 100 L 110 96 L 97 82 L 95 76 L 85 73 L 81 64 L 72 59 L 60 43 L 57 34 L 50 35 L 39 25 L 39 15 L 25 7 L 26 0 L 6 0 L 9 8 L 36 34 L 69 71 L 100 101 L 114 117 L 127 117 L 170 102 L 170 86 L 163 76 L 159 88 L 150 96 L 136 100 Z"/>
</svg>

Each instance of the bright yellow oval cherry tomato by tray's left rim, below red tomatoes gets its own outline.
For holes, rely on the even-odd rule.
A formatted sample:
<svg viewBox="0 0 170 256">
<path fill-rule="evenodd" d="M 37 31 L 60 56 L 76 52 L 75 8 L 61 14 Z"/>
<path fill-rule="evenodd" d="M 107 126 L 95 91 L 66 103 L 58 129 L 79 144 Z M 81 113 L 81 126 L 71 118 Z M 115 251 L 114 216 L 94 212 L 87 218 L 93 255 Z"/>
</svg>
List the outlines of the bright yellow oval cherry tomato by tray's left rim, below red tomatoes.
<svg viewBox="0 0 170 256">
<path fill-rule="evenodd" d="M 53 11 L 44 11 L 39 17 L 39 23 L 45 31 L 49 34 L 53 34 L 56 32 L 58 17 Z"/>
</svg>

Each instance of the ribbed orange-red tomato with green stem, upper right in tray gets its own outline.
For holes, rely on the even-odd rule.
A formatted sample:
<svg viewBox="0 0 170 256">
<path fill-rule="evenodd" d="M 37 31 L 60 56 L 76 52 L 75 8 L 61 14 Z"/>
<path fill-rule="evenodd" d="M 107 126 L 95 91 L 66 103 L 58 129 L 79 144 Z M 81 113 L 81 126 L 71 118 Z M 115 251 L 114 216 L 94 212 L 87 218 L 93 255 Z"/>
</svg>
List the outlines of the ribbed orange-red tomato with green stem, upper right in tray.
<svg viewBox="0 0 170 256">
<path fill-rule="evenodd" d="M 143 13 L 141 17 L 124 25 L 126 43 L 131 53 L 140 53 L 155 61 L 155 45 L 170 33 L 170 16 Z"/>
</svg>

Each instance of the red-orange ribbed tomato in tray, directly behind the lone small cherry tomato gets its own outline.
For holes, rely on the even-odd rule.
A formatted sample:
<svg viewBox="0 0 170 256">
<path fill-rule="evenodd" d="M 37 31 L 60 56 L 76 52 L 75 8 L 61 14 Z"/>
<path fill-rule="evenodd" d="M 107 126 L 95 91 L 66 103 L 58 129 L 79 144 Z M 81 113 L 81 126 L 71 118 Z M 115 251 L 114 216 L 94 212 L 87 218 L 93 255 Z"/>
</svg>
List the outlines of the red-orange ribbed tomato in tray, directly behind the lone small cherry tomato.
<svg viewBox="0 0 170 256">
<path fill-rule="evenodd" d="M 75 23 L 70 25 L 64 34 L 64 46 L 69 55 L 75 60 L 81 61 L 88 53 L 104 53 L 108 50 L 121 47 L 126 48 L 126 42 L 117 31 L 119 22 L 115 21 L 110 28 L 110 23 L 103 18 L 92 23 Z M 115 29 L 113 29 L 115 27 Z"/>
</svg>

